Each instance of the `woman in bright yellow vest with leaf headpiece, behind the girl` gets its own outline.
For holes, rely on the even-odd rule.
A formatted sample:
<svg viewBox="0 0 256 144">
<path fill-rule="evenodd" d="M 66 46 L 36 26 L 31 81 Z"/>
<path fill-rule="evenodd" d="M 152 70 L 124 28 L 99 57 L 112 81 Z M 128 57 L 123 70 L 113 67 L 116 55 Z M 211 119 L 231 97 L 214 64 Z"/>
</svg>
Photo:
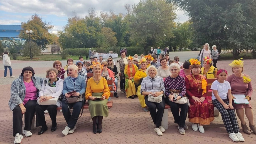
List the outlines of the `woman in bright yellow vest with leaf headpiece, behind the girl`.
<svg viewBox="0 0 256 144">
<path fill-rule="evenodd" d="M 217 68 L 212 66 L 212 59 L 209 57 L 205 57 L 203 59 L 203 67 L 201 68 L 200 74 L 205 76 L 206 78 L 216 78 Z"/>
</svg>

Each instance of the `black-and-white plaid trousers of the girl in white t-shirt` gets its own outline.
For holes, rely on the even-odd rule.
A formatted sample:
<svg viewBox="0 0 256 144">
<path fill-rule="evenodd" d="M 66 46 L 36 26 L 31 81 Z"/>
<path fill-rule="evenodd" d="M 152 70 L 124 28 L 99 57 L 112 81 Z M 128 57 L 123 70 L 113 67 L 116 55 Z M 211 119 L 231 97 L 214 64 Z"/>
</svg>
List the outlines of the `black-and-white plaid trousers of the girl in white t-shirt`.
<svg viewBox="0 0 256 144">
<path fill-rule="evenodd" d="M 227 105 L 228 100 L 223 100 Z M 225 109 L 224 106 L 216 99 L 212 100 L 213 105 L 220 111 L 221 118 L 224 122 L 225 128 L 228 133 L 238 133 L 240 132 L 235 110 Z"/>
</svg>

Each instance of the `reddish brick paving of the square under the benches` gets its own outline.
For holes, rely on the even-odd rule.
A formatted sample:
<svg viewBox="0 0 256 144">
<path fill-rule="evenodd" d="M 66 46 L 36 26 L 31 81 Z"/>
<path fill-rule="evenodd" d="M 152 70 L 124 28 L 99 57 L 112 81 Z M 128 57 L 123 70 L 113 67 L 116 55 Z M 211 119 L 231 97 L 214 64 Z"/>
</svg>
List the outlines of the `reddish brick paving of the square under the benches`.
<svg viewBox="0 0 256 144">
<path fill-rule="evenodd" d="M 228 64 L 231 61 L 218 61 L 218 68 L 226 68 L 230 75 L 231 68 Z M 256 89 L 256 75 L 255 75 L 255 63 L 256 60 L 244 60 L 244 72 L 252 78 L 253 88 Z M 53 61 L 12 61 L 13 75 L 18 77 L 21 73 L 21 69 L 25 66 L 32 66 L 35 69 L 35 73 L 38 76 L 45 76 L 47 68 L 52 67 Z M 64 63 L 64 61 L 63 61 Z M 2 62 L 0 62 L 2 65 Z M 9 74 L 8 74 L 9 75 Z M 0 143 L 13 143 L 13 126 L 12 126 L 12 112 L 9 110 L 8 101 L 10 98 L 10 85 L 15 78 L 3 78 L 3 66 L 0 67 L 0 88 L 2 94 L 0 99 L 3 106 L 0 109 Z M 163 133 L 163 136 L 158 136 L 154 131 L 154 124 L 149 112 L 143 112 L 138 98 L 130 99 L 126 98 L 125 94 L 121 94 L 119 91 L 119 98 L 113 97 L 113 107 L 109 109 L 109 116 L 103 119 L 103 132 L 94 134 L 92 132 L 92 120 L 88 109 L 83 111 L 83 116 L 77 121 L 77 129 L 73 134 L 63 136 L 61 131 L 67 125 L 62 113 L 57 113 L 57 130 L 50 131 L 51 120 L 49 114 L 45 114 L 46 124 L 48 130 L 38 135 L 40 127 L 35 127 L 31 132 L 33 136 L 22 140 L 22 143 L 38 143 L 38 144 L 65 144 L 65 143 L 176 143 L 176 144 L 197 144 L 197 143 L 233 143 L 229 138 L 221 116 L 215 117 L 215 120 L 210 125 L 204 126 L 205 133 L 199 131 L 193 131 L 191 123 L 186 120 L 186 124 L 189 129 L 186 130 L 185 135 L 179 134 L 178 125 L 174 124 L 174 118 L 171 110 L 168 110 L 168 129 Z M 255 116 L 256 101 L 252 95 L 252 105 Z M 245 117 L 248 125 L 248 120 Z M 255 121 L 255 120 L 254 120 Z M 256 122 L 256 121 L 255 121 Z M 240 123 L 238 119 L 238 123 Z M 240 125 L 240 124 L 239 124 Z M 241 127 L 240 127 L 241 128 Z M 256 135 L 247 135 L 241 131 L 245 138 L 244 143 L 256 143 Z M 240 142 L 239 142 L 240 143 Z"/>
</svg>

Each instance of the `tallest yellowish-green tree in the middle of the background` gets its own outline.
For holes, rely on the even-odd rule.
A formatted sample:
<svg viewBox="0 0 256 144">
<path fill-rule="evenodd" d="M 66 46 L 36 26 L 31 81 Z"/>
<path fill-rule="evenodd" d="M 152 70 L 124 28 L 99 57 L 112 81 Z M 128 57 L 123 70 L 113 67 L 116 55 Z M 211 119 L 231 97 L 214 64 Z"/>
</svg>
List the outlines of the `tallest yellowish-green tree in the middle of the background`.
<svg viewBox="0 0 256 144">
<path fill-rule="evenodd" d="M 147 0 L 140 1 L 132 9 L 131 34 L 136 43 L 144 47 L 144 54 L 150 46 L 163 43 L 164 34 L 173 37 L 171 28 L 176 19 L 173 4 L 165 0 Z"/>
</svg>

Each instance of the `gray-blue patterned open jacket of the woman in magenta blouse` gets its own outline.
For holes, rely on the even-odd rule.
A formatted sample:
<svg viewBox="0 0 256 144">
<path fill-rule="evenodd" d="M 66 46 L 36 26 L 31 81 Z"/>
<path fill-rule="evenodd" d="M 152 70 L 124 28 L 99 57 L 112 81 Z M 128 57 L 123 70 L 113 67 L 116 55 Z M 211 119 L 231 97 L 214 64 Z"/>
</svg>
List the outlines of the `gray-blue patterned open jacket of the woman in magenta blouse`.
<svg viewBox="0 0 256 144">
<path fill-rule="evenodd" d="M 43 78 L 38 76 L 31 77 L 35 87 L 38 89 L 36 96 L 38 97 L 38 93 L 41 90 L 41 85 L 43 84 Z M 14 107 L 23 103 L 26 94 L 26 86 L 23 82 L 23 76 L 19 76 L 16 80 L 13 81 L 11 85 L 11 98 L 9 100 L 10 110 L 13 111 Z"/>
</svg>

